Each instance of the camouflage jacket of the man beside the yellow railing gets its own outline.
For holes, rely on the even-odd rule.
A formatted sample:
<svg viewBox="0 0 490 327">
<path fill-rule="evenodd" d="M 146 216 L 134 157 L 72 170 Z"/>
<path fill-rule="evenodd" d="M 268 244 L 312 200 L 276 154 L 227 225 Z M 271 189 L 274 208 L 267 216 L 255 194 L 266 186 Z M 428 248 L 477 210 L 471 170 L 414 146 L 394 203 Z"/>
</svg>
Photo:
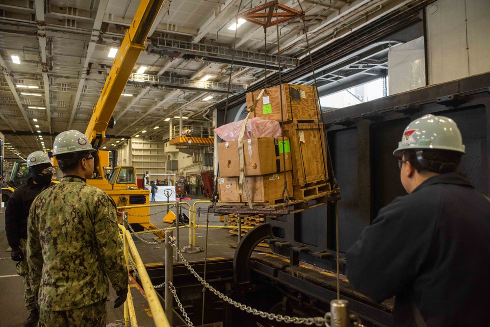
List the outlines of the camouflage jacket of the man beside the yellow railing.
<svg viewBox="0 0 490 327">
<path fill-rule="evenodd" d="M 27 261 L 43 309 L 106 299 L 106 276 L 116 291 L 128 287 L 114 201 L 77 176 L 43 191 L 29 211 Z"/>
</svg>

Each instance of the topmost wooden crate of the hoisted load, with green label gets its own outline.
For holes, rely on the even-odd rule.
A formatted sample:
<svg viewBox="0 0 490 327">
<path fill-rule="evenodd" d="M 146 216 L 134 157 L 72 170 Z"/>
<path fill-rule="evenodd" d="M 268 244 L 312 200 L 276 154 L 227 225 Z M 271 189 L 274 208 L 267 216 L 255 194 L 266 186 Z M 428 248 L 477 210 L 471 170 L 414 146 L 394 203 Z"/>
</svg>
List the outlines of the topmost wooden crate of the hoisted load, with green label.
<svg viewBox="0 0 490 327">
<path fill-rule="evenodd" d="M 284 122 L 318 122 L 318 94 L 314 86 L 282 84 L 281 87 Z M 247 107 L 254 104 L 260 91 L 261 90 L 246 94 Z M 265 89 L 262 97 L 257 102 L 257 107 L 253 112 L 253 116 L 280 122 L 281 94 L 279 85 Z"/>
</svg>

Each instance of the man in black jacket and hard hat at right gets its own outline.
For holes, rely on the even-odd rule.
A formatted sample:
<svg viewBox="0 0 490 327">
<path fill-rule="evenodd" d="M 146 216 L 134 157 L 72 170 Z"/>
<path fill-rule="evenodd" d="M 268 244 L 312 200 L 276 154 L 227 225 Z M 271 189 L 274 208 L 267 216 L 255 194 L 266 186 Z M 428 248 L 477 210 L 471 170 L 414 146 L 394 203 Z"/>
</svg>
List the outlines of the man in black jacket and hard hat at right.
<svg viewBox="0 0 490 327">
<path fill-rule="evenodd" d="M 426 115 L 398 149 L 408 195 L 382 208 L 346 252 L 347 278 L 375 301 L 396 296 L 394 326 L 486 326 L 490 200 L 458 172 L 456 123 Z"/>
</svg>

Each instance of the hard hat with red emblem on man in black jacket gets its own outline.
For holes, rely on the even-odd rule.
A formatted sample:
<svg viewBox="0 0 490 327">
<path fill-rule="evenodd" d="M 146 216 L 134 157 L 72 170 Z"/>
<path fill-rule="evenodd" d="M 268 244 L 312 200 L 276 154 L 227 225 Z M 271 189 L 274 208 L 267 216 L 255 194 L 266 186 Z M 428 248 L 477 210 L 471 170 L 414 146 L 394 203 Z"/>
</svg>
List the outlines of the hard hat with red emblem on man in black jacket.
<svg viewBox="0 0 490 327">
<path fill-rule="evenodd" d="M 449 150 L 464 153 L 463 138 L 456 123 L 447 117 L 426 115 L 410 123 L 393 155 L 405 150 Z"/>
</svg>

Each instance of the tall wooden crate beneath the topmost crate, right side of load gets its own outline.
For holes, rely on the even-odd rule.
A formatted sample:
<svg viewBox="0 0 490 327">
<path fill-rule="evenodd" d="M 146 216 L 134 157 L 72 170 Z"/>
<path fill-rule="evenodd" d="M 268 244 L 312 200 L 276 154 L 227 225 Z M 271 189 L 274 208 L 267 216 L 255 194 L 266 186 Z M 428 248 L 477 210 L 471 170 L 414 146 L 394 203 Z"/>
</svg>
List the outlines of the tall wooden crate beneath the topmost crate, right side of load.
<svg viewBox="0 0 490 327">
<path fill-rule="evenodd" d="M 327 154 L 322 124 L 284 124 L 293 159 L 293 185 L 298 187 L 325 183 L 328 179 Z"/>
</svg>

